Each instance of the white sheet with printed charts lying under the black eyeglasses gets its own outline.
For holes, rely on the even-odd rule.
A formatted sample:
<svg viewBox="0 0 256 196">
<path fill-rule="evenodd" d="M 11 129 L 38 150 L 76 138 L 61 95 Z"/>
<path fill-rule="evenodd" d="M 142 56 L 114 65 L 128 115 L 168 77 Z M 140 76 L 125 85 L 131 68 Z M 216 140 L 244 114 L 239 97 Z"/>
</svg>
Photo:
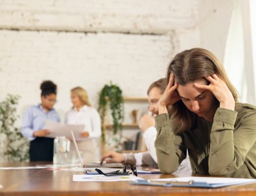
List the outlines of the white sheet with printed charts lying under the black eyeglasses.
<svg viewBox="0 0 256 196">
<path fill-rule="evenodd" d="M 136 176 L 73 175 L 74 182 L 118 182 L 142 180 Z"/>
</svg>

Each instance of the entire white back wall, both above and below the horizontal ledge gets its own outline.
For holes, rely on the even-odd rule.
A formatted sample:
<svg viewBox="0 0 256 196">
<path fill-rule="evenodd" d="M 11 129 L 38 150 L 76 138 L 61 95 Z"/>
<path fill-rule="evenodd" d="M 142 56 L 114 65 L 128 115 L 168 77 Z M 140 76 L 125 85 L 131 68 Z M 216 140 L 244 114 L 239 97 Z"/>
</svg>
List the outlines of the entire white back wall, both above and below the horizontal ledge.
<svg viewBox="0 0 256 196">
<path fill-rule="evenodd" d="M 124 96 L 146 97 L 177 52 L 199 46 L 197 15 L 196 0 L 0 0 L 0 100 L 22 96 L 22 116 L 40 102 L 41 81 L 50 79 L 63 121 L 78 85 L 95 107 L 110 81 Z M 145 111 L 147 104 L 126 105 L 126 123 L 132 107 Z"/>
</svg>

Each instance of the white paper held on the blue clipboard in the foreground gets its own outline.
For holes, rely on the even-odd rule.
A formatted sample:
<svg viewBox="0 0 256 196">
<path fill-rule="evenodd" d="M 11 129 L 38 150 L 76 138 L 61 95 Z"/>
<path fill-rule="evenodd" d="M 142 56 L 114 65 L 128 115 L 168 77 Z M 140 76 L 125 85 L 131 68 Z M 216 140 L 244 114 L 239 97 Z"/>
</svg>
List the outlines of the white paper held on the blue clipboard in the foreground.
<svg viewBox="0 0 256 196">
<path fill-rule="evenodd" d="M 208 184 L 243 184 L 256 182 L 256 179 L 245 179 L 245 178 L 214 178 L 214 177 L 181 177 L 181 178 L 165 178 L 165 179 L 157 179 L 154 181 L 178 181 L 178 182 L 206 182 Z"/>
</svg>

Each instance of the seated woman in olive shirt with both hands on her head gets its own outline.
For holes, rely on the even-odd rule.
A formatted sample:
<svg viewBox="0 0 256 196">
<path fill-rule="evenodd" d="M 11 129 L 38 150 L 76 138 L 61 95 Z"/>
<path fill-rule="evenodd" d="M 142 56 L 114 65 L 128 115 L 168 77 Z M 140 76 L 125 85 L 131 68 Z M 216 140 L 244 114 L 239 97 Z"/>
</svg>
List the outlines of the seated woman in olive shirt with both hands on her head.
<svg viewBox="0 0 256 196">
<path fill-rule="evenodd" d="M 194 173 L 256 178 L 256 107 L 238 101 L 220 60 L 201 48 L 183 51 L 167 81 L 156 117 L 160 170 L 174 172 L 188 150 Z"/>
</svg>

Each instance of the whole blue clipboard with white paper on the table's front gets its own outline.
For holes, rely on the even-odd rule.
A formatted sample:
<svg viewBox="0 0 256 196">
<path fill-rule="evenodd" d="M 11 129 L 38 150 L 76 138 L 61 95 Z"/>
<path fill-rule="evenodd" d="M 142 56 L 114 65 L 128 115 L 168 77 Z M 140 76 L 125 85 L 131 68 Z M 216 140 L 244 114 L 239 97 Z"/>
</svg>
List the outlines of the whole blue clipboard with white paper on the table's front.
<svg viewBox="0 0 256 196">
<path fill-rule="evenodd" d="M 131 182 L 134 185 L 151 185 L 164 187 L 198 187 L 198 188 L 219 188 L 245 183 L 256 183 L 255 179 L 238 178 L 215 178 L 215 177 L 183 177 L 158 180 L 136 180 Z"/>
</svg>

